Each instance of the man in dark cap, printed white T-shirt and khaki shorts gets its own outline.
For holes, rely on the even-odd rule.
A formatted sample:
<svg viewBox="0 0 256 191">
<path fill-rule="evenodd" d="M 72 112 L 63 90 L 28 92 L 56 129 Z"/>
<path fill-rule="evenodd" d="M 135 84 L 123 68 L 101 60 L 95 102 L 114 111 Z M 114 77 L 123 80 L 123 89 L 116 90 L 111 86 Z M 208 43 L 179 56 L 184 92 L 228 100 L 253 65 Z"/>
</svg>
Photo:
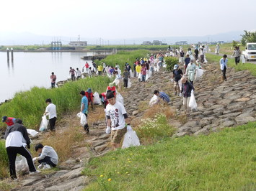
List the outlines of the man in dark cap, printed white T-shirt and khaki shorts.
<svg viewBox="0 0 256 191">
<path fill-rule="evenodd" d="M 111 143 L 113 149 L 120 148 L 120 142 L 123 139 L 127 131 L 127 125 L 129 125 L 128 115 L 125 111 L 125 107 L 122 103 L 115 100 L 115 95 L 112 92 L 106 95 L 107 104 L 106 114 L 107 114 L 107 129 L 106 133 L 111 132 Z M 125 124 L 126 123 L 126 124 Z"/>
</svg>

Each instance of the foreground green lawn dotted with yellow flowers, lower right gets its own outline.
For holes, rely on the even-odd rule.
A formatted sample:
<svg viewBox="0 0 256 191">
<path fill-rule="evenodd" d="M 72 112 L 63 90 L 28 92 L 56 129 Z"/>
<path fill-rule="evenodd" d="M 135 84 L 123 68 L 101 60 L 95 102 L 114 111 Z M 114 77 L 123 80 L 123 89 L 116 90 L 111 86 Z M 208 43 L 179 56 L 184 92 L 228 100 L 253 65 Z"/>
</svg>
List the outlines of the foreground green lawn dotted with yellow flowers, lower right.
<svg viewBox="0 0 256 191">
<path fill-rule="evenodd" d="M 254 122 L 109 152 L 85 167 L 92 182 L 84 190 L 253 190 L 255 127 Z"/>
</svg>

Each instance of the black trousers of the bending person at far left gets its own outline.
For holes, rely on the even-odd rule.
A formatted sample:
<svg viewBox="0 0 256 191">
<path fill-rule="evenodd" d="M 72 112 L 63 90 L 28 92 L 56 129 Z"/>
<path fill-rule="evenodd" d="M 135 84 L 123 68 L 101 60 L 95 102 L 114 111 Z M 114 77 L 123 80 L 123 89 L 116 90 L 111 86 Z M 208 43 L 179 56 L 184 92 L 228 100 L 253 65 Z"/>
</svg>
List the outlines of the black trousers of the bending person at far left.
<svg viewBox="0 0 256 191">
<path fill-rule="evenodd" d="M 6 148 L 6 152 L 9 159 L 9 170 L 10 170 L 12 179 L 17 178 L 16 169 L 15 169 L 15 160 L 16 160 L 17 154 L 20 154 L 27 159 L 27 164 L 28 164 L 28 167 L 30 168 L 30 172 L 36 171 L 35 165 L 32 161 L 32 155 L 24 146 L 21 146 L 21 147 L 9 146 Z"/>
</svg>

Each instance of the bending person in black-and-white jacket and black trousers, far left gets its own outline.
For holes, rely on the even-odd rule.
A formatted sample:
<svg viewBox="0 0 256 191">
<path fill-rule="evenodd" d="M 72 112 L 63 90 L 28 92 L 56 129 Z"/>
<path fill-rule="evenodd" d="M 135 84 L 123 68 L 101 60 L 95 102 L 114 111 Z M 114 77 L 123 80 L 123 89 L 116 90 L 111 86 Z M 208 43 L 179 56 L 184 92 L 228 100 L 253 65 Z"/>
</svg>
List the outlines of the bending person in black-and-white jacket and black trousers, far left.
<svg viewBox="0 0 256 191">
<path fill-rule="evenodd" d="M 5 147 L 9 160 L 9 171 L 12 180 L 17 179 L 15 160 L 17 154 L 22 155 L 27 159 L 27 164 L 30 169 L 30 174 L 35 174 L 40 171 L 35 169 L 35 165 L 32 161 L 32 155 L 27 149 L 30 149 L 30 137 L 27 134 L 27 129 L 22 125 L 22 120 L 17 119 L 15 124 L 9 126 L 4 134 Z M 27 146 L 27 149 L 26 149 Z"/>
</svg>

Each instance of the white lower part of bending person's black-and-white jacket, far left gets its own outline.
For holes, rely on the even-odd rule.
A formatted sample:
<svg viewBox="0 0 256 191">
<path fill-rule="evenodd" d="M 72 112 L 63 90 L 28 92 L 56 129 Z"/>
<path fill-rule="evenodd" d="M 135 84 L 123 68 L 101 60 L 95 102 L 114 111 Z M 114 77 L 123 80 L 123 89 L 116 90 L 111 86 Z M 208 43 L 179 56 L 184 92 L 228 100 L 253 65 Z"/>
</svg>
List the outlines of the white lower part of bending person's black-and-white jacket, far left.
<svg viewBox="0 0 256 191">
<path fill-rule="evenodd" d="M 24 139 L 21 132 L 13 131 L 12 133 L 9 133 L 8 136 L 6 137 L 5 147 L 7 148 L 9 146 L 26 147 L 27 141 Z"/>
</svg>

